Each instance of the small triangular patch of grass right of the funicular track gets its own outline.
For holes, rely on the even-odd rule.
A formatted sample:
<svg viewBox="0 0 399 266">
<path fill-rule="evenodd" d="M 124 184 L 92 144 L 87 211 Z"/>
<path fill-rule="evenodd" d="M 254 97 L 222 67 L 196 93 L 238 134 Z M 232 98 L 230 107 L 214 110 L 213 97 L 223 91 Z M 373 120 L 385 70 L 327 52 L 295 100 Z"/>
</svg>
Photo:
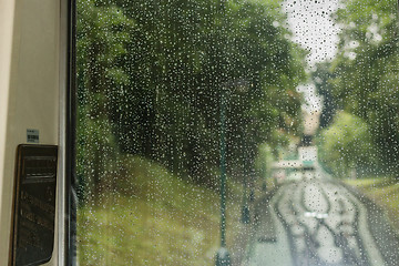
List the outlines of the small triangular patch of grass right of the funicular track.
<svg viewBox="0 0 399 266">
<path fill-rule="evenodd" d="M 375 177 L 347 180 L 347 184 L 355 186 L 371 198 L 386 213 L 397 232 L 399 232 L 399 182 L 392 177 Z"/>
</svg>

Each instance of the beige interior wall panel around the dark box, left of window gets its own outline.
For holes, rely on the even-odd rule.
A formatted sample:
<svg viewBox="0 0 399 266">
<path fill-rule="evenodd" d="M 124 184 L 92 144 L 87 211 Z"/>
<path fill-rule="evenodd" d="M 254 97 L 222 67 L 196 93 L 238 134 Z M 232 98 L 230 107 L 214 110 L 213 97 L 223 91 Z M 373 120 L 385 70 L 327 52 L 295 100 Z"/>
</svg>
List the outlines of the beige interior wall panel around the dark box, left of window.
<svg viewBox="0 0 399 266">
<path fill-rule="evenodd" d="M 59 143 L 60 1 L 0 2 L 0 235 L 9 236 L 18 144 L 27 143 L 27 129 L 39 130 L 40 144 Z M 0 237 L 0 257 L 8 254 L 9 237 Z"/>
</svg>

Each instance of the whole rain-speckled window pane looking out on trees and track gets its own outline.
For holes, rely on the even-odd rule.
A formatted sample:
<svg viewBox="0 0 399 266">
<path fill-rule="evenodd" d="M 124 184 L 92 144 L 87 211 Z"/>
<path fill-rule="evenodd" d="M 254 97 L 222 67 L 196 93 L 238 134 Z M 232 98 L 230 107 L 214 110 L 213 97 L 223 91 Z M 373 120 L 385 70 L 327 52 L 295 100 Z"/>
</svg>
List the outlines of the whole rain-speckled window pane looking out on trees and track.
<svg viewBox="0 0 399 266">
<path fill-rule="evenodd" d="M 396 0 L 78 0 L 79 265 L 399 265 Z"/>
</svg>

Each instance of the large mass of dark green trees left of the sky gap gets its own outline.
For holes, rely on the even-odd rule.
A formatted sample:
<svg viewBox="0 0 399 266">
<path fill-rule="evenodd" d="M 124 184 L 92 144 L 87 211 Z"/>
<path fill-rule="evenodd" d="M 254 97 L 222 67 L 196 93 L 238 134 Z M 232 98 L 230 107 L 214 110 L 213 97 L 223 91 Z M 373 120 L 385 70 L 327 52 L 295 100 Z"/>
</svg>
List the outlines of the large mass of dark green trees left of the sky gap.
<svg viewBox="0 0 399 266">
<path fill-rule="evenodd" d="M 93 147 L 95 168 L 110 156 L 95 146 L 106 147 L 213 186 L 227 90 L 228 168 L 253 164 L 260 143 L 282 139 L 272 129 L 299 129 L 305 51 L 285 19 L 275 1 L 78 1 L 82 160 Z"/>
</svg>

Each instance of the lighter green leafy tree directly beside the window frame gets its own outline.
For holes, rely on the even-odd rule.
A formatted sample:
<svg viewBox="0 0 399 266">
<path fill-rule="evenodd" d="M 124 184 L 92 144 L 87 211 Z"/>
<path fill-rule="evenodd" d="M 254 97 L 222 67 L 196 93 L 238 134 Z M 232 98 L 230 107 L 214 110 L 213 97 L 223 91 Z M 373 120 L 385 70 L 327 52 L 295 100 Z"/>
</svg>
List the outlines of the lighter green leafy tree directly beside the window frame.
<svg viewBox="0 0 399 266">
<path fill-rule="evenodd" d="M 82 197 L 100 194 L 115 168 L 117 145 L 110 124 L 113 92 L 129 79 L 119 65 L 134 27 L 119 8 L 78 1 L 78 178 Z"/>
</svg>

